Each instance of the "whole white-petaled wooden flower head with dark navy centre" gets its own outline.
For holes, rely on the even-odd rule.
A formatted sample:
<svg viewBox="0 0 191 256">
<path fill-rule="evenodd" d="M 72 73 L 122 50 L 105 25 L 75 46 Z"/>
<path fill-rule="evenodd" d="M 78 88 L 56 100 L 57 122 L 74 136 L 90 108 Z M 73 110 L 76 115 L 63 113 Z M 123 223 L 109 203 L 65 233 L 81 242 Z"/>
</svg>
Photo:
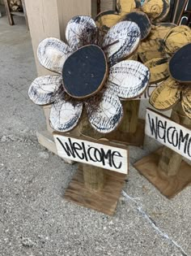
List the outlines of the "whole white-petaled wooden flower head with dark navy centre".
<svg viewBox="0 0 191 256">
<path fill-rule="evenodd" d="M 52 104 L 54 130 L 68 132 L 78 123 L 83 106 L 93 128 L 112 132 L 120 124 L 120 99 L 137 98 L 146 89 L 150 72 L 142 63 L 123 60 L 137 49 L 140 29 L 121 21 L 100 38 L 96 23 L 75 16 L 66 27 L 67 43 L 57 38 L 40 42 L 40 64 L 56 72 L 32 82 L 28 95 L 38 105 Z"/>
</svg>

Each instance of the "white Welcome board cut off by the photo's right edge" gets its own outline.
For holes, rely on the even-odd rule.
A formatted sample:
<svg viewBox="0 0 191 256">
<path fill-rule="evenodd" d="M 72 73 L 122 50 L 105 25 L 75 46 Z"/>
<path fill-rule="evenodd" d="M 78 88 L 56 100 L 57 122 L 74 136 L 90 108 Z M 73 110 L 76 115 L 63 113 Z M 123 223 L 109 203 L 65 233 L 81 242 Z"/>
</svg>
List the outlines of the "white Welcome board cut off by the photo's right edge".
<svg viewBox="0 0 191 256">
<path fill-rule="evenodd" d="M 145 133 L 191 160 L 191 131 L 188 128 L 147 109 Z"/>
</svg>

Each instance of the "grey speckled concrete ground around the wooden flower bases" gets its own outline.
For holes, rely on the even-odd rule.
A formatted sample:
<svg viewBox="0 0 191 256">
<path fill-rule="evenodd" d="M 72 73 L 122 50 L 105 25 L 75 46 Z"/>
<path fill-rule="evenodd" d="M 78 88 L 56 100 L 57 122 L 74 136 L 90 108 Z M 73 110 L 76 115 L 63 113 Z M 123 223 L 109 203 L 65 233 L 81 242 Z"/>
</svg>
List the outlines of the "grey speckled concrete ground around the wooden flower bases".
<svg viewBox="0 0 191 256">
<path fill-rule="evenodd" d="M 191 187 L 169 201 L 132 167 L 159 146 L 153 140 L 130 148 L 129 179 L 113 217 L 63 199 L 77 165 L 36 140 L 45 117 L 28 99 L 36 67 L 24 20 L 15 21 L 11 27 L 0 18 L 0 255 L 191 255 Z"/>
</svg>

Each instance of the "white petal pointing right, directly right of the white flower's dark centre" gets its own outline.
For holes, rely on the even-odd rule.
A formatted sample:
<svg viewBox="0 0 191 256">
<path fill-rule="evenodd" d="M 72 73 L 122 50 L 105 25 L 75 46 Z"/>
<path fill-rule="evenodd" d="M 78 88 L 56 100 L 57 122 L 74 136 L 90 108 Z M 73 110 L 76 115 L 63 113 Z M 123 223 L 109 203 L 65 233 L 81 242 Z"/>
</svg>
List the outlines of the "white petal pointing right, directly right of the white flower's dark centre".
<svg viewBox="0 0 191 256">
<path fill-rule="evenodd" d="M 120 98 L 137 98 L 149 83 L 149 68 L 135 60 L 124 60 L 109 70 L 108 83 Z"/>
</svg>

